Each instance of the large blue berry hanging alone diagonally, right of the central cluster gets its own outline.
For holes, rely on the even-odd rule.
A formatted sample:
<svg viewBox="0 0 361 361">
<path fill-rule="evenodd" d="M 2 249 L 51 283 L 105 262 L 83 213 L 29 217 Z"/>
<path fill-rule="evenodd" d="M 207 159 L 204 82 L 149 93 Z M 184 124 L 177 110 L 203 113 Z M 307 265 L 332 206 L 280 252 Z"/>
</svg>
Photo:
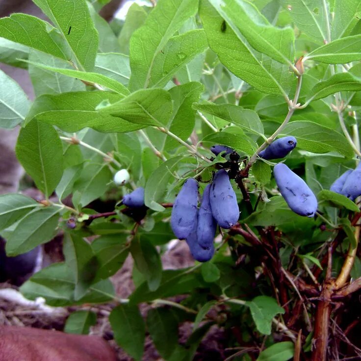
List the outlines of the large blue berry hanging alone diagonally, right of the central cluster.
<svg viewBox="0 0 361 361">
<path fill-rule="evenodd" d="M 287 205 L 301 216 L 313 217 L 317 210 L 317 199 L 306 182 L 284 163 L 276 164 L 273 174 Z"/>
</svg>

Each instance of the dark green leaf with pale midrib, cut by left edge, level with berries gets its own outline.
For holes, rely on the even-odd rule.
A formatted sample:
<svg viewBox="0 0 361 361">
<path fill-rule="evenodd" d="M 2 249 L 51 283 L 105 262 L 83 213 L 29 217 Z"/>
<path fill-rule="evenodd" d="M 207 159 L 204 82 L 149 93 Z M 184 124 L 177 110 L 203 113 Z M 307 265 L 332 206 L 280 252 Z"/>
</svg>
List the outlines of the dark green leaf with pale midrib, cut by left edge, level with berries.
<svg viewBox="0 0 361 361">
<path fill-rule="evenodd" d="M 39 206 L 32 198 L 22 194 L 3 194 L 0 196 L 0 230 L 11 226 L 13 223 Z"/>
</svg>

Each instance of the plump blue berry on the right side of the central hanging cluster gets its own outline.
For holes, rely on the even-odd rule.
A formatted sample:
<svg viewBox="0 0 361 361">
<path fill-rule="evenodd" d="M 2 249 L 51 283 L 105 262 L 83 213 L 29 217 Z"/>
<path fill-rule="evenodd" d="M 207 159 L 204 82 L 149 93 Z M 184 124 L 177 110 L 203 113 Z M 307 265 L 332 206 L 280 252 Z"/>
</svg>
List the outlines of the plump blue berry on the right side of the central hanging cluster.
<svg viewBox="0 0 361 361">
<path fill-rule="evenodd" d="M 222 228 L 231 228 L 238 221 L 237 197 L 224 169 L 220 169 L 214 175 L 209 202 L 213 217 Z"/>
</svg>

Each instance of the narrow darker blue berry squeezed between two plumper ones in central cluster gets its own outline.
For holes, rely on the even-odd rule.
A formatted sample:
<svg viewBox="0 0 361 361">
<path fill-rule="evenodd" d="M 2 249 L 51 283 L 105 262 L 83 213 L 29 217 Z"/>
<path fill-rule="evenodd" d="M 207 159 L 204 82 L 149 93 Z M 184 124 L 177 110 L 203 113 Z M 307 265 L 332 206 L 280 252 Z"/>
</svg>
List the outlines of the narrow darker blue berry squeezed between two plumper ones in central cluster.
<svg viewBox="0 0 361 361">
<path fill-rule="evenodd" d="M 214 234 L 217 229 L 217 222 L 213 218 L 210 208 L 209 191 L 211 184 L 208 184 L 203 192 L 202 203 L 198 210 L 197 241 L 201 247 L 209 248 L 213 245 Z"/>
</svg>

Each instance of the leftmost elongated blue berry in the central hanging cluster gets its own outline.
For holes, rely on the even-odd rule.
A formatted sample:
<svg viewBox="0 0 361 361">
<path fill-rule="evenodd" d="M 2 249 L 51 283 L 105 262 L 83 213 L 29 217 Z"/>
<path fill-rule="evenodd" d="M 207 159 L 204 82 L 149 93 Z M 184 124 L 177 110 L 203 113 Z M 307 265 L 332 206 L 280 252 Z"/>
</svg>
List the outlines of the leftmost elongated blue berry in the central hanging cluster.
<svg viewBox="0 0 361 361">
<path fill-rule="evenodd" d="M 171 227 L 179 239 L 185 239 L 197 227 L 198 182 L 185 181 L 176 197 L 171 216 Z"/>
</svg>

